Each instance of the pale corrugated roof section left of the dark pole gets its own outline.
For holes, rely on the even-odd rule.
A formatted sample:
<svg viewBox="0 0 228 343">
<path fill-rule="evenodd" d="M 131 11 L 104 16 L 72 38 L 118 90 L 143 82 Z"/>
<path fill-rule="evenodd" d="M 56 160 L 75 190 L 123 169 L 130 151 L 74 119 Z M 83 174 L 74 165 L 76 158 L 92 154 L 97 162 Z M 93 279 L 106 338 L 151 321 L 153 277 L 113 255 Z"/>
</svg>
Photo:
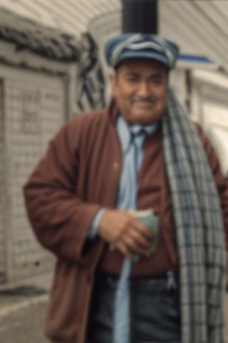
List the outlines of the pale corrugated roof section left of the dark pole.
<svg viewBox="0 0 228 343">
<path fill-rule="evenodd" d="M 85 32 L 94 16 L 121 9 L 120 0 L 0 0 L 0 5 L 73 34 Z"/>
</svg>

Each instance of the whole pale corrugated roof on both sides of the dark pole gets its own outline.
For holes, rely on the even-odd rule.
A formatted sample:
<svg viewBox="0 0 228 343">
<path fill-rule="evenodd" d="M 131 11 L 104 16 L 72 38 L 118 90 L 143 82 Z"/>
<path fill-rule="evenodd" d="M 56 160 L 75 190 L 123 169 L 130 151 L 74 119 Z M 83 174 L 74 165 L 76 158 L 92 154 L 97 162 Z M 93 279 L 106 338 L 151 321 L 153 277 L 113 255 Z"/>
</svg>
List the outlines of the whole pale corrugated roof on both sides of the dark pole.
<svg viewBox="0 0 228 343">
<path fill-rule="evenodd" d="M 121 0 L 0 0 L 0 6 L 77 36 L 101 15 L 101 40 L 121 30 Z M 181 52 L 228 66 L 228 1 L 162 0 L 159 8 L 160 34 L 175 40 Z"/>
</svg>

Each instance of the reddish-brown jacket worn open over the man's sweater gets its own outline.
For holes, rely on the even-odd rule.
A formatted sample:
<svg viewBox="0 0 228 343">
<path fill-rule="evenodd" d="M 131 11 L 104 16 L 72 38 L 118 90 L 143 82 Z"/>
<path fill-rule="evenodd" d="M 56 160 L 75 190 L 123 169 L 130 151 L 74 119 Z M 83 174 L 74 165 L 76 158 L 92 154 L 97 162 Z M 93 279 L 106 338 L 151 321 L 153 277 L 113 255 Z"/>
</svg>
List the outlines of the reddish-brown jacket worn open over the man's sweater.
<svg viewBox="0 0 228 343">
<path fill-rule="evenodd" d="M 94 270 L 104 248 L 101 239 L 90 243 L 87 237 L 97 211 L 115 207 L 120 169 L 114 117 L 102 110 L 66 122 L 24 187 L 34 233 L 58 258 L 45 327 L 53 342 L 85 342 Z M 221 192 L 228 199 L 228 186 Z M 225 207 L 227 220 L 228 201 Z"/>
</svg>

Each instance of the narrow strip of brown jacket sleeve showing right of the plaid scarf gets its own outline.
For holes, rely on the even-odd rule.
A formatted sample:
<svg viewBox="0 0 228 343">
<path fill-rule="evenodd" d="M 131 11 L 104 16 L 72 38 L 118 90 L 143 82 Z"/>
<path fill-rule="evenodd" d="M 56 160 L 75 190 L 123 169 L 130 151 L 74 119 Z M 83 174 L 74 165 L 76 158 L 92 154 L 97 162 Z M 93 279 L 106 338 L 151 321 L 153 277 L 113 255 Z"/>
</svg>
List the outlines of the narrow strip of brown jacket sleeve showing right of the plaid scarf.
<svg viewBox="0 0 228 343">
<path fill-rule="evenodd" d="M 197 132 L 199 133 L 199 137 L 201 138 L 201 141 L 203 143 L 207 160 L 212 169 L 212 174 L 214 175 L 214 180 L 216 182 L 218 194 L 220 196 L 220 203 L 223 211 L 223 220 L 225 224 L 226 249 L 228 251 L 228 178 L 223 176 L 223 173 L 220 169 L 220 163 L 218 161 L 218 157 L 216 155 L 214 147 L 212 146 L 212 143 L 210 143 L 210 140 L 203 132 L 201 126 L 199 126 L 198 123 L 194 124 L 197 128 Z"/>
</svg>

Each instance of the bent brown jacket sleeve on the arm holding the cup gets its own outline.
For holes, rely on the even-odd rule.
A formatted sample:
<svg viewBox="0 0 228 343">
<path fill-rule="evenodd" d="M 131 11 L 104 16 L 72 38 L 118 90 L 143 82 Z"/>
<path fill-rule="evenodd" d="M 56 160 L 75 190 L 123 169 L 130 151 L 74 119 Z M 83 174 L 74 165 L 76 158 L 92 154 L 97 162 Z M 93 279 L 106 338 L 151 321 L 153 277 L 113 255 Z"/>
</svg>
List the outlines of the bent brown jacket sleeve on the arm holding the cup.
<svg viewBox="0 0 228 343">
<path fill-rule="evenodd" d="M 88 235 L 99 204 L 84 202 L 75 190 L 78 174 L 77 130 L 73 121 L 49 143 L 23 187 L 29 222 L 42 246 L 58 257 L 86 263 Z M 75 137 L 76 136 L 76 137 Z"/>
</svg>

